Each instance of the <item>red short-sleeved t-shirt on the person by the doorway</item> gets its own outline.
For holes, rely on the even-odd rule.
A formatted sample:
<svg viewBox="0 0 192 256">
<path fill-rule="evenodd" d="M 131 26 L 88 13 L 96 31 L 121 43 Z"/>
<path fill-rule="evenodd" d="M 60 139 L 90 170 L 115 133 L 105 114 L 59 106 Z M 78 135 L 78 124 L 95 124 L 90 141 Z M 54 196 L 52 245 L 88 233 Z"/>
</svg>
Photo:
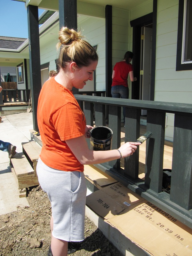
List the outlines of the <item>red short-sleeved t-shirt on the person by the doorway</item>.
<svg viewBox="0 0 192 256">
<path fill-rule="evenodd" d="M 126 61 L 117 62 L 113 68 L 115 71 L 115 77 L 113 78 L 113 82 L 111 86 L 114 85 L 124 85 L 128 87 L 127 78 L 130 71 L 133 71 L 133 67 L 131 63 L 127 63 Z"/>
</svg>

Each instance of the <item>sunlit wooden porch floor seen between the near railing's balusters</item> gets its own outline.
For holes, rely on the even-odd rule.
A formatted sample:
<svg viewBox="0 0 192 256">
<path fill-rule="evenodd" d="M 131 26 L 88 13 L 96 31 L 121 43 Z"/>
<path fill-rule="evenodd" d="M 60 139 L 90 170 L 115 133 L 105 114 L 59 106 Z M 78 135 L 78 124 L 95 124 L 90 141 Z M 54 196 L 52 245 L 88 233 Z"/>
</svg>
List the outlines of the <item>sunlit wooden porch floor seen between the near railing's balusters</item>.
<svg viewBox="0 0 192 256">
<path fill-rule="evenodd" d="M 125 128 L 121 127 L 121 143 L 124 143 L 124 132 Z M 146 126 L 140 125 L 140 135 L 146 132 Z M 164 161 L 163 169 L 172 169 L 172 151 L 173 142 L 165 140 L 164 141 Z M 146 142 L 139 146 L 139 178 L 143 179 L 145 177 L 145 157 L 146 157 Z M 122 166 L 124 166 L 124 159 L 121 161 Z M 121 167 L 122 167 L 121 166 Z"/>
</svg>

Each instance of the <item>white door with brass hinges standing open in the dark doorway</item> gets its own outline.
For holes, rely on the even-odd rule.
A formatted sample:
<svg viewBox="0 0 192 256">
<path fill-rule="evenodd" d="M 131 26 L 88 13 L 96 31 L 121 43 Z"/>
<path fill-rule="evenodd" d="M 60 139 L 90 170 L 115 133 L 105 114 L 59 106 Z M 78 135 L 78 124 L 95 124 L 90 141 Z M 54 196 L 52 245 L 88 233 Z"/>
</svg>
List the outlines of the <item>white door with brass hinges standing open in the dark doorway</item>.
<svg viewBox="0 0 192 256">
<path fill-rule="evenodd" d="M 152 24 L 141 29 L 140 100 L 150 100 L 151 92 Z M 146 116 L 147 110 L 141 110 Z"/>
</svg>

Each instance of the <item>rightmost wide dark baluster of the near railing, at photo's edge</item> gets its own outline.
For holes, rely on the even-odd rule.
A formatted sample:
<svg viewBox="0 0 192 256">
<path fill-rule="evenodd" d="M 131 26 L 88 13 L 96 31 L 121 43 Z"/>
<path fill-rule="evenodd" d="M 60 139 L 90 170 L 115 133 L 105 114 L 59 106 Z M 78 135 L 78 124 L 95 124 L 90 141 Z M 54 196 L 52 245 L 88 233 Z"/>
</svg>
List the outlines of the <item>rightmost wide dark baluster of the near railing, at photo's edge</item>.
<svg viewBox="0 0 192 256">
<path fill-rule="evenodd" d="M 175 114 L 170 200 L 192 208 L 192 116 Z"/>
</svg>

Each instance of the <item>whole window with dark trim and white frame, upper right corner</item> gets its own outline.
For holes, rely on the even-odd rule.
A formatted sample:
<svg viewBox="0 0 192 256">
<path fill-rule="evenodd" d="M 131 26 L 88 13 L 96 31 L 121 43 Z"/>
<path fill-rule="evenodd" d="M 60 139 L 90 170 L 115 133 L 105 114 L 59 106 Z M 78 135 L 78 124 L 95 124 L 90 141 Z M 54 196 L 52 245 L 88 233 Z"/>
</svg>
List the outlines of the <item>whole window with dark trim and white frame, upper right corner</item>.
<svg viewBox="0 0 192 256">
<path fill-rule="evenodd" d="M 192 0 L 179 0 L 176 70 L 192 69 Z"/>
</svg>

